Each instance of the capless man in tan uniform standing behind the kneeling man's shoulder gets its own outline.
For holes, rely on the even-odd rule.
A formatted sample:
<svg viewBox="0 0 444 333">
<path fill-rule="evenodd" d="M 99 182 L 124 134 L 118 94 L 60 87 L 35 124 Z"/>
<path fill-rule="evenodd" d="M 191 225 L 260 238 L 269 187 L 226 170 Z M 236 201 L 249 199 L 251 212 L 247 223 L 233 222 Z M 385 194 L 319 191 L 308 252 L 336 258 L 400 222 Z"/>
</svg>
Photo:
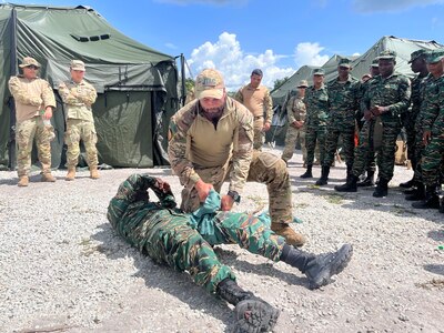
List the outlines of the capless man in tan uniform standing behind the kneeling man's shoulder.
<svg viewBox="0 0 444 333">
<path fill-rule="evenodd" d="M 262 70 L 253 70 L 250 83 L 242 87 L 234 95 L 234 99 L 244 104 L 254 117 L 253 148 L 255 150 L 262 150 L 262 145 L 265 142 L 265 132 L 270 130 L 273 118 L 273 102 L 269 89 L 265 85 L 261 85 L 262 78 Z"/>
</svg>

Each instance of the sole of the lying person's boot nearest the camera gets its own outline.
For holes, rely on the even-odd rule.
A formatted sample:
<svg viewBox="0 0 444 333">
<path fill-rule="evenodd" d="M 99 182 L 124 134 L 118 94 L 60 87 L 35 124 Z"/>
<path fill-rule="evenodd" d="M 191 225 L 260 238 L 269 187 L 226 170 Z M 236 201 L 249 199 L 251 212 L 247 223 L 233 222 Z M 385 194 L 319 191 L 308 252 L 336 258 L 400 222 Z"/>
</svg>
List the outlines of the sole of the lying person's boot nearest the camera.
<svg viewBox="0 0 444 333">
<path fill-rule="evenodd" d="M 244 300 L 235 309 L 235 330 L 238 333 L 259 333 L 272 331 L 278 323 L 280 311 L 260 300 Z"/>
</svg>

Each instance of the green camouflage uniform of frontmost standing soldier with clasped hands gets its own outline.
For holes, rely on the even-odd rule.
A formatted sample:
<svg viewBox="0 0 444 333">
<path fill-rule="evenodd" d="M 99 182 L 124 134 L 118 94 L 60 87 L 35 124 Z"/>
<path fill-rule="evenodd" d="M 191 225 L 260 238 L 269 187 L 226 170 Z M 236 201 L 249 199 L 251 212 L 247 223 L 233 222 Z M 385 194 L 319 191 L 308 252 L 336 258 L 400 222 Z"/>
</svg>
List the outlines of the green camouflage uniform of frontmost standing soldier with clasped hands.
<svg viewBox="0 0 444 333">
<path fill-rule="evenodd" d="M 377 153 L 380 179 L 387 182 L 393 176 L 395 163 L 395 148 L 397 134 L 401 131 L 401 114 L 406 111 L 410 104 L 411 83 L 407 77 L 393 73 L 389 78 L 375 77 L 371 80 L 369 89 L 361 101 L 361 109 L 370 110 L 375 105 L 389 107 L 389 111 L 381 114 L 380 119 L 366 121 L 363 135 L 360 138 L 359 147 L 355 150 L 353 174 L 357 178 L 364 171 L 369 159 L 370 147 L 374 143 L 375 122 L 382 122 L 381 147 Z M 366 133 L 369 135 L 366 137 Z M 365 135 L 365 137 L 364 137 Z M 361 140 L 362 139 L 362 140 Z"/>
</svg>

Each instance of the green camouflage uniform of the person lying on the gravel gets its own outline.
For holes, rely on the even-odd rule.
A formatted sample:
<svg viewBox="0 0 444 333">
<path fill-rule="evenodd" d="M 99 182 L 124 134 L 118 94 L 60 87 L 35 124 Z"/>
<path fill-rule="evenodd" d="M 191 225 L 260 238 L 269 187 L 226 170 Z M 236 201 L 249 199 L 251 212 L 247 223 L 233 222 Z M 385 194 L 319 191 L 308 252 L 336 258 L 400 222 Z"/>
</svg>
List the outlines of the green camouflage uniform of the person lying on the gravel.
<svg viewBox="0 0 444 333">
<path fill-rule="evenodd" d="M 192 229 L 188 214 L 174 209 L 174 196 L 159 189 L 159 181 L 148 174 L 133 174 L 108 206 L 108 220 L 115 231 L 155 262 L 188 271 L 198 285 L 214 293 L 221 281 L 235 276 L 220 263 L 212 245 L 239 244 L 272 261 L 280 260 L 284 239 L 253 215 L 216 212 L 212 219 L 214 235 L 209 242 Z M 148 189 L 158 195 L 159 203 L 149 202 Z"/>
</svg>

